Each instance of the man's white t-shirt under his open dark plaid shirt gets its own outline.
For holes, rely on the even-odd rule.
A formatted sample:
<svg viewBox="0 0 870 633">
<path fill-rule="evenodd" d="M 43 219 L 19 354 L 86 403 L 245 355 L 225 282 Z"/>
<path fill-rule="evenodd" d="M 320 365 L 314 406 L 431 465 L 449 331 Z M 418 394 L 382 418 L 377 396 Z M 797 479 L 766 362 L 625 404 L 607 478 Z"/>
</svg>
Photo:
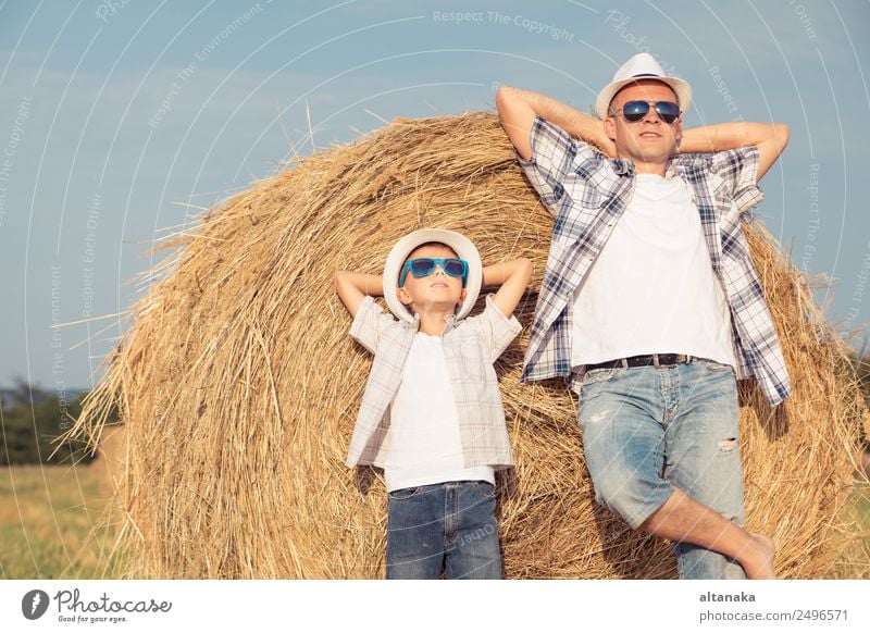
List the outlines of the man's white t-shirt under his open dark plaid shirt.
<svg viewBox="0 0 870 633">
<path fill-rule="evenodd" d="M 734 367 L 731 312 L 680 176 L 634 195 L 574 296 L 572 364 L 689 353 Z"/>
</svg>

